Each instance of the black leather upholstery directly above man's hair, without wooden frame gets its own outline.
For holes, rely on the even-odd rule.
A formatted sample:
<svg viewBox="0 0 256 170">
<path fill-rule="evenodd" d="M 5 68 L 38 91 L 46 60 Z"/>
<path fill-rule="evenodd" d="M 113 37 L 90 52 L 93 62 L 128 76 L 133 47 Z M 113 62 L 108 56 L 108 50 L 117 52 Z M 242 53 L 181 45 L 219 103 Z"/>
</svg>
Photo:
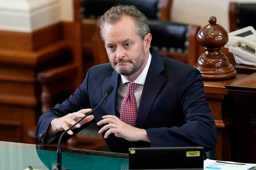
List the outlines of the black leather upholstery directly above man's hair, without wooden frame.
<svg viewBox="0 0 256 170">
<path fill-rule="evenodd" d="M 85 18 L 97 18 L 104 14 L 109 8 L 116 5 L 134 5 L 149 19 L 159 18 L 160 0 L 83 0 L 81 6 L 84 8 Z"/>
</svg>

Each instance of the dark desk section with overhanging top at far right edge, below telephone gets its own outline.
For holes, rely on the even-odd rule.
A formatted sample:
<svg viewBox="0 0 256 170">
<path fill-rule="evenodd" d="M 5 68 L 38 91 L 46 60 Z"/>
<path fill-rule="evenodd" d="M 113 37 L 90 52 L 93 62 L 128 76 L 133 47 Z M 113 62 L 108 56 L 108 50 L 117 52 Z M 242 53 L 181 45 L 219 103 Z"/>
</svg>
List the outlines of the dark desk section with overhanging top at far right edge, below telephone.
<svg viewBox="0 0 256 170">
<path fill-rule="evenodd" d="M 225 85 L 234 101 L 233 159 L 256 163 L 256 73 Z"/>
</svg>

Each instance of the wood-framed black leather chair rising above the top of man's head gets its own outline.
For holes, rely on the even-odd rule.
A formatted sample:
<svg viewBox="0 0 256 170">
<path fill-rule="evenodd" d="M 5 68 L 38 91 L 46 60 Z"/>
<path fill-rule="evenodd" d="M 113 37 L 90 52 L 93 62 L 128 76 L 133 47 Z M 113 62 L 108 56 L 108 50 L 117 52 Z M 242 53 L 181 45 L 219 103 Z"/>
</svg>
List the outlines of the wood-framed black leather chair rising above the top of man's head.
<svg viewBox="0 0 256 170">
<path fill-rule="evenodd" d="M 97 18 L 110 7 L 118 4 L 135 5 L 149 19 L 169 21 L 171 17 L 172 0 L 82 0 L 82 48 L 85 64 L 92 61 L 93 65 L 101 64 L 93 53 L 98 34 L 97 30 L 95 31 Z"/>
</svg>

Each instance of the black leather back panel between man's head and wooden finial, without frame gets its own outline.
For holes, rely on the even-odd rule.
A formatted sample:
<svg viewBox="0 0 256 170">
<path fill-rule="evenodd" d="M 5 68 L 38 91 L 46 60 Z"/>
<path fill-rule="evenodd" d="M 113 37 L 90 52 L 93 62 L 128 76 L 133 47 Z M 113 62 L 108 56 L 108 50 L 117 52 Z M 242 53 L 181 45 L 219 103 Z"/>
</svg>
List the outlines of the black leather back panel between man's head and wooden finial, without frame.
<svg viewBox="0 0 256 170">
<path fill-rule="evenodd" d="M 148 26 L 152 34 L 151 45 L 154 48 L 162 51 L 187 53 L 187 24 L 149 20 Z"/>
</svg>

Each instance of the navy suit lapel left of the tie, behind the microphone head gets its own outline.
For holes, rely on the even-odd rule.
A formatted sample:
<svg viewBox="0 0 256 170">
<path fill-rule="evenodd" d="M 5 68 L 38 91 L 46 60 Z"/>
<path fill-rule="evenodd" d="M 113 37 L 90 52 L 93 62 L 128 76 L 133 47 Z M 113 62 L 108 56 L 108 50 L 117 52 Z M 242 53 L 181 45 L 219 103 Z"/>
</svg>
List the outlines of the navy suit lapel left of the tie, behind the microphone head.
<svg viewBox="0 0 256 170">
<path fill-rule="evenodd" d="M 112 76 L 107 77 L 103 84 L 103 93 L 105 95 L 105 90 L 108 86 L 112 86 L 114 89 L 112 93 L 106 97 L 104 101 L 106 114 L 108 115 L 116 115 L 117 114 L 117 93 L 118 93 L 118 86 L 119 86 L 119 77 L 116 71 L 113 71 Z"/>
</svg>

